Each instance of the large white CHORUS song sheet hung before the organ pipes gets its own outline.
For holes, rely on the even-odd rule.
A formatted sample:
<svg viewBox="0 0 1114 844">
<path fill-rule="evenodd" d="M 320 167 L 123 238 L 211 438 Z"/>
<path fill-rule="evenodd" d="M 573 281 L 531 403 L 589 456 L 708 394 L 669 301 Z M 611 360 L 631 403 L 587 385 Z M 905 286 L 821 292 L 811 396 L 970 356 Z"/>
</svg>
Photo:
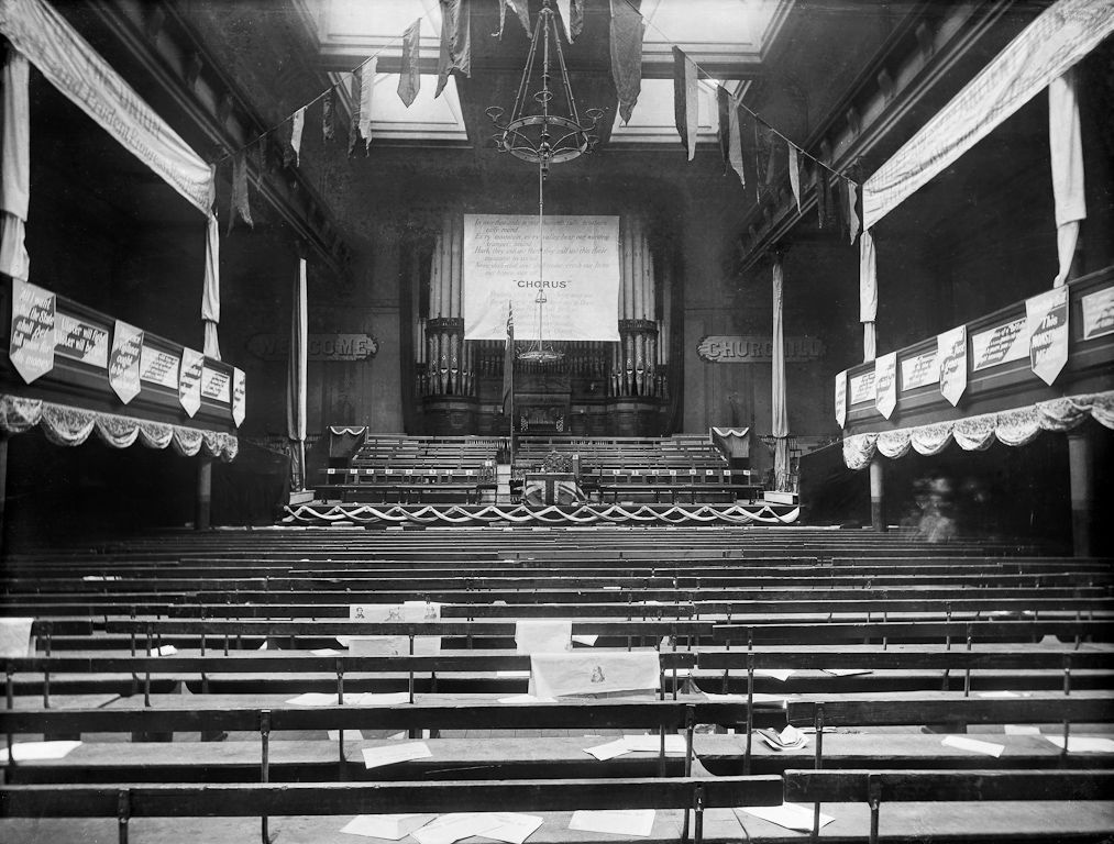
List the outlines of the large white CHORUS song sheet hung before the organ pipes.
<svg viewBox="0 0 1114 844">
<path fill-rule="evenodd" d="M 505 340 L 508 303 L 516 340 L 536 340 L 539 284 L 544 340 L 619 338 L 619 218 L 543 219 L 539 281 L 538 217 L 465 215 L 465 340 Z"/>
</svg>

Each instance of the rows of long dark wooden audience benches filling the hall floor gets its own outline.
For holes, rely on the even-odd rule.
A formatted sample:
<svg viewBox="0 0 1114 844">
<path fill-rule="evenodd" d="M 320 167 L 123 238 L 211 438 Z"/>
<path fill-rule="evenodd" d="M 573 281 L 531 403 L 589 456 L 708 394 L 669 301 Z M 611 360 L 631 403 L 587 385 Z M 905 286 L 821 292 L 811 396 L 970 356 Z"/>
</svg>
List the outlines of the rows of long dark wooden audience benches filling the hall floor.
<svg viewBox="0 0 1114 844">
<path fill-rule="evenodd" d="M 530 842 L 618 841 L 570 813 L 646 807 L 651 841 L 772 842 L 801 835 L 762 817 L 784 799 L 838 841 L 1100 841 L 1114 575 L 1038 550 L 322 529 L 13 557 L 3 615 L 37 619 L 37 650 L 3 660 L 0 733 L 82 744 L 7 766 L 0 838 L 247 841 L 270 816 L 278 841 L 340 842 L 358 814 L 487 811 L 544 818 Z M 567 620 L 573 657 L 652 659 L 657 688 L 540 699 L 530 619 Z"/>
</svg>

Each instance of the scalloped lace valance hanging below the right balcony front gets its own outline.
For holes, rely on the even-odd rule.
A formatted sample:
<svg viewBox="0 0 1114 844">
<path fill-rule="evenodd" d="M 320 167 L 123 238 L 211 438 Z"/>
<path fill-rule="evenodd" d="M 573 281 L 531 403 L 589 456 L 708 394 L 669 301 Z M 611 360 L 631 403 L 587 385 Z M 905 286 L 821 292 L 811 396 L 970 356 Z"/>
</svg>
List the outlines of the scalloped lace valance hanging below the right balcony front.
<svg viewBox="0 0 1114 844">
<path fill-rule="evenodd" d="M 995 440 L 1005 445 L 1026 445 L 1042 431 L 1069 431 L 1087 416 L 1114 429 L 1114 391 L 1071 395 L 931 425 L 853 434 L 843 439 L 843 462 L 849 469 L 864 469 L 876 451 L 887 458 L 902 458 L 910 449 L 918 454 L 939 454 L 952 440 L 964 451 L 984 451 Z"/>
</svg>

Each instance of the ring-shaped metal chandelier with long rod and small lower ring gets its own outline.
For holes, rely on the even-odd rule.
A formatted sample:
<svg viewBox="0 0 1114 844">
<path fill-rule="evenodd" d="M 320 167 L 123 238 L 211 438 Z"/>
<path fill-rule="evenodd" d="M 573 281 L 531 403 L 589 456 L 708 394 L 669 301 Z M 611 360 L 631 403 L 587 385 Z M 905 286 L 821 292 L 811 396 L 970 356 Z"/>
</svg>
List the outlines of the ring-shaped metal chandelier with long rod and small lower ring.
<svg viewBox="0 0 1114 844">
<path fill-rule="evenodd" d="M 557 57 L 557 70 L 560 75 L 560 87 L 557 91 L 550 88 L 553 81 L 550 45 L 553 53 Z M 539 47 L 541 48 L 540 79 L 536 72 Z M 530 95 L 529 90 L 535 85 L 540 87 Z M 564 96 L 564 104 L 557 100 L 558 96 Z M 588 109 L 584 112 L 586 120 L 580 121 L 573 86 L 568 80 L 568 68 L 565 67 L 565 53 L 560 48 L 560 35 L 554 20 L 554 10 L 549 8 L 549 0 L 543 0 L 538 22 L 530 38 L 526 66 L 522 68 L 518 95 L 506 122 L 502 122 L 504 114 L 504 109 L 498 106 L 487 109 L 487 116 L 497 129 L 492 136 L 496 149 L 500 153 L 510 153 L 515 158 L 538 166 L 538 295 L 534 300 L 538 306 L 538 338 L 530 349 L 521 352 L 518 359 L 532 363 L 553 363 L 564 355 L 543 343 L 543 317 L 547 302 L 543 237 L 546 177 L 549 175 L 550 165 L 571 161 L 595 149 L 599 141 L 596 128 L 604 111 L 599 108 Z"/>
</svg>

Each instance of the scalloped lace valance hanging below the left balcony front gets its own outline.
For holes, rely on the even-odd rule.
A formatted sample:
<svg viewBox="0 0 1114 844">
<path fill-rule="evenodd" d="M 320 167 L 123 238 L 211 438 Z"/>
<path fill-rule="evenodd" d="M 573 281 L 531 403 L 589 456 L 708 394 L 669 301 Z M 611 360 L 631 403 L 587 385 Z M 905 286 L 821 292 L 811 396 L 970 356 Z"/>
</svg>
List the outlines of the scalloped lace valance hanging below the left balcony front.
<svg viewBox="0 0 1114 844">
<path fill-rule="evenodd" d="M 111 413 L 53 404 L 41 399 L 0 395 L 0 432 L 11 435 L 36 425 L 55 445 L 80 445 L 94 432 L 114 449 L 126 449 L 137 440 L 148 449 L 167 445 L 187 458 L 198 452 L 221 460 L 235 460 L 240 441 L 221 431 L 202 431 L 165 422 L 117 416 Z"/>
</svg>

